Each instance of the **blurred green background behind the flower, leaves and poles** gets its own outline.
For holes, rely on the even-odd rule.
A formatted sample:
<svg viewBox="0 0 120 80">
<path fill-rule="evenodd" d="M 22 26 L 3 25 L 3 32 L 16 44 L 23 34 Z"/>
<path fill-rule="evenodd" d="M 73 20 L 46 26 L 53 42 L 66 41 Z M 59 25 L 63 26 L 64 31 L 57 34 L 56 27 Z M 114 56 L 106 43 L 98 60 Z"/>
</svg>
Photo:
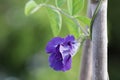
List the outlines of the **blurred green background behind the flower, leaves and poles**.
<svg viewBox="0 0 120 80">
<path fill-rule="evenodd" d="M 45 53 L 45 45 L 53 37 L 47 13 L 42 9 L 25 16 L 27 1 L 0 0 L 0 80 L 77 80 L 80 51 L 73 58 L 70 71 L 52 70 Z M 36 1 L 40 3 L 41 0 Z M 108 5 L 110 80 L 120 80 L 119 3 L 120 0 L 109 0 Z M 67 34 L 64 26 L 60 36 Z"/>
</svg>

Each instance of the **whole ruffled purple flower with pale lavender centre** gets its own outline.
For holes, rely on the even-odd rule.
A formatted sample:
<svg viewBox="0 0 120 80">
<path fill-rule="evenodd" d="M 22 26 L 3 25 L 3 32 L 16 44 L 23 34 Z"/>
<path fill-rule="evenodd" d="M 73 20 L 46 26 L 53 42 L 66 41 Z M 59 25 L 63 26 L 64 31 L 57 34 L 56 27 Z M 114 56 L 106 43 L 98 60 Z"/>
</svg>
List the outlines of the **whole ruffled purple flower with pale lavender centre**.
<svg viewBox="0 0 120 80">
<path fill-rule="evenodd" d="M 50 54 L 50 66 L 56 71 L 67 71 L 71 68 L 72 56 L 75 55 L 79 43 L 74 36 L 65 38 L 55 37 L 46 46 L 46 52 Z"/>
</svg>

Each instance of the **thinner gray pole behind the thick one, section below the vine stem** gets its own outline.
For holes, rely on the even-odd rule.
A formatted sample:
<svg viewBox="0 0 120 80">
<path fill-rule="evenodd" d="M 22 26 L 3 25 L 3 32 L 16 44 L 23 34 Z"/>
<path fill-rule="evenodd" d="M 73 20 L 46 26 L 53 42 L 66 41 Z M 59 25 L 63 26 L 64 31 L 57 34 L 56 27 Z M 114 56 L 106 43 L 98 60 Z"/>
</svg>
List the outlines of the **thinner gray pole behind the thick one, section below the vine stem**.
<svg viewBox="0 0 120 80">
<path fill-rule="evenodd" d="M 82 62 L 80 71 L 80 80 L 91 80 L 92 69 L 92 52 L 91 40 L 85 40 L 83 44 Z"/>
</svg>

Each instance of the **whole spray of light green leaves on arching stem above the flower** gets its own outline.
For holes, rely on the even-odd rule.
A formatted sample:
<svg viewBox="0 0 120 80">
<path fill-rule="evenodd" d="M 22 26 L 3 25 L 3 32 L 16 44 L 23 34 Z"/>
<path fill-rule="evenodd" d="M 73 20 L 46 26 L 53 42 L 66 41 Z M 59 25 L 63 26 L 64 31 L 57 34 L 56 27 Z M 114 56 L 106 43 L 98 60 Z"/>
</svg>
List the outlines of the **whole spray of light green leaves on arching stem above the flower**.
<svg viewBox="0 0 120 80">
<path fill-rule="evenodd" d="M 63 4 L 67 3 L 67 9 L 61 9 L 61 6 Z M 75 17 L 76 15 L 79 15 L 80 11 L 83 9 L 84 6 L 84 0 L 55 0 L 56 6 L 46 4 L 44 1 L 37 5 L 33 0 L 27 2 L 25 7 L 25 14 L 32 14 L 38 11 L 42 6 L 47 7 L 48 10 L 48 16 L 49 21 L 51 24 L 51 29 L 54 34 L 54 36 L 57 36 L 61 30 L 62 27 L 62 16 L 61 14 L 65 15 L 65 23 L 70 31 L 70 34 L 73 34 L 76 38 L 82 34 L 80 31 L 81 26 L 79 22 L 83 22 L 85 25 L 90 25 L 90 20 L 87 17 L 79 16 Z M 65 11 L 68 11 L 65 12 Z M 84 33 L 84 31 L 83 31 Z"/>
</svg>

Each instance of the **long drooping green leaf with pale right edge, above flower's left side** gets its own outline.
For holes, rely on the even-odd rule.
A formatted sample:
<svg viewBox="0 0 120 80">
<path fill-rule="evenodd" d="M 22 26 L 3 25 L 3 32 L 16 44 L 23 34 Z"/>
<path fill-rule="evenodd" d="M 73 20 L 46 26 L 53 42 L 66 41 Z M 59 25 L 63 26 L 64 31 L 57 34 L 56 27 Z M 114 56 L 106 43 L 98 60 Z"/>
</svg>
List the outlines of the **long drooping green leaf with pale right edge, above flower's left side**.
<svg viewBox="0 0 120 80">
<path fill-rule="evenodd" d="M 59 11 L 48 8 L 48 16 L 54 36 L 57 36 L 61 30 L 62 17 Z"/>
</svg>

